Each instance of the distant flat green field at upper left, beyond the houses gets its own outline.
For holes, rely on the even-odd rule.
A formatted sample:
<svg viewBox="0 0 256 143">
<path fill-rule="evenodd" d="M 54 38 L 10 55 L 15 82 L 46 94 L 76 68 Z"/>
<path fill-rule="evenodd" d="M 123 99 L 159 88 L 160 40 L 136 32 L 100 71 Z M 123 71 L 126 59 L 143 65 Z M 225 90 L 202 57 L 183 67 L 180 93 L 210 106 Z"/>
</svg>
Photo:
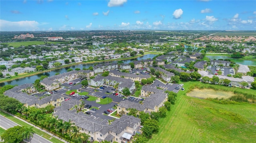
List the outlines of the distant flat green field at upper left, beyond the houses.
<svg viewBox="0 0 256 143">
<path fill-rule="evenodd" d="M 47 42 L 48 44 L 57 44 L 57 43 L 70 43 L 66 41 L 52 41 L 52 42 Z M 22 42 L 11 42 L 11 43 L 6 43 L 9 44 L 9 46 L 12 46 L 14 48 L 20 47 L 20 46 L 28 46 L 28 45 L 44 45 L 44 41 L 22 41 Z"/>
</svg>

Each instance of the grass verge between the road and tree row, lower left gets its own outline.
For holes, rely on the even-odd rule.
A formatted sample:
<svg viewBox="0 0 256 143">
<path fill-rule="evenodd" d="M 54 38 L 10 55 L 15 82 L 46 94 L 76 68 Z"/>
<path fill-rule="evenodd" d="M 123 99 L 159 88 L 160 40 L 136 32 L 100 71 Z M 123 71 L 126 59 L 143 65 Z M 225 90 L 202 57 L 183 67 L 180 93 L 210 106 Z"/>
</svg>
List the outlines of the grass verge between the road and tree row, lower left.
<svg viewBox="0 0 256 143">
<path fill-rule="evenodd" d="M 0 115 L 2 115 L 2 116 L 4 116 L 4 117 L 6 117 L 6 118 L 8 118 L 8 119 L 10 119 L 10 120 L 12 120 L 12 121 L 14 121 L 15 123 L 17 123 L 17 124 L 19 124 L 19 125 L 21 125 L 21 126 L 24 126 L 24 127 L 32 127 L 31 125 L 28 125 L 27 123 L 25 123 L 25 122 L 23 122 L 23 121 L 21 121 L 21 120 L 19 120 L 19 119 L 17 119 L 17 118 L 14 118 L 13 116 L 11 116 L 11 115 L 9 115 L 9 114 L 6 114 L 6 113 L 4 113 L 4 112 L 2 112 L 2 111 L 0 111 Z M 42 135 L 42 137 L 44 137 L 44 138 L 47 139 L 48 141 L 51 141 L 51 142 L 53 142 L 53 143 L 64 143 L 64 142 L 62 142 L 62 141 L 56 139 L 55 137 L 52 137 L 51 135 L 48 135 L 47 133 L 44 133 L 43 131 L 40 131 L 39 129 L 37 129 L 37 128 L 35 128 L 35 127 L 33 127 L 33 130 L 35 131 L 36 134 Z M 52 137 L 52 138 L 50 139 L 50 137 Z"/>
</svg>

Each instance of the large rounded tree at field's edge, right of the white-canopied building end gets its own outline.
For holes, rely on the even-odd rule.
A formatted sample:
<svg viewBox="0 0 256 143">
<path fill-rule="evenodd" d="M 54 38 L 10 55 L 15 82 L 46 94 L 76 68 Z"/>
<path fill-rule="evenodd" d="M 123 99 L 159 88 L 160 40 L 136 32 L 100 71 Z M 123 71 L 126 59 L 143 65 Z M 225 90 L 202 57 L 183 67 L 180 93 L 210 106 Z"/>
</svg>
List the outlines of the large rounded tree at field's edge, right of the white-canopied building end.
<svg viewBox="0 0 256 143">
<path fill-rule="evenodd" d="M 144 124 L 143 128 L 141 129 L 144 135 L 147 138 L 151 138 L 153 133 L 157 133 L 159 129 L 158 121 L 155 119 L 147 119 Z"/>
</svg>

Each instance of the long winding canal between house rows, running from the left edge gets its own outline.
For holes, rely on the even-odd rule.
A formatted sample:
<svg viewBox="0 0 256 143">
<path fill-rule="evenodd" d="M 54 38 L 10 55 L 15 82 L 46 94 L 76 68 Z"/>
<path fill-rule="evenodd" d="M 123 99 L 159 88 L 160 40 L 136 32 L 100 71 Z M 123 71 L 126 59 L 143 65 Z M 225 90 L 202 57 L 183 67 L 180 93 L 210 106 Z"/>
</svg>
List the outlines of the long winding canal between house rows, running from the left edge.
<svg viewBox="0 0 256 143">
<path fill-rule="evenodd" d="M 144 59 L 152 59 L 154 58 L 156 55 L 154 54 L 147 54 L 147 55 L 143 55 L 142 57 L 138 57 L 138 58 L 135 58 L 135 59 L 129 59 L 129 60 L 123 60 L 124 63 L 131 63 L 132 61 L 134 60 L 144 60 Z M 116 60 L 116 61 L 106 61 L 106 62 L 98 62 L 97 64 L 101 64 L 101 63 L 116 63 L 117 61 L 120 61 L 120 60 Z M 47 76 L 54 76 L 56 73 L 64 73 L 64 72 L 67 72 L 67 69 L 73 69 L 75 70 L 76 68 L 79 68 L 79 69 L 83 69 L 83 68 L 89 68 L 90 66 L 94 66 L 94 64 L 96 63 L 88 63 L 88 64 L 78 64 L 78 65 L 73 65 L 73 66 L 70 66 L 70 67 L 65 67 L 65 68 L 62 68 L 62 69 L 56 69 L 54 71 L 51 71 L 51 72 L 45 72 L 45 73 L 41 73 L 41 74 L 36 74 L 36 75 L 32 75 L 32 76 L 27 76 L 27 77 L 24 77 L 24 78 L 19 78 L 19 79 L 15 79 L 15 80 L 11 80 L 11 81 L 7 81 L 7 82 L 2 82 L 0 83 L 0 86 L 5 86 L 5 85 L 21 85 L 21 84 L 25 84 L 25 83 L 34 83 L 34 81 L 36 79 L 39 79 L 40 76 L 43 76 L 43 75 L 47 75 Z"/>
</svg>

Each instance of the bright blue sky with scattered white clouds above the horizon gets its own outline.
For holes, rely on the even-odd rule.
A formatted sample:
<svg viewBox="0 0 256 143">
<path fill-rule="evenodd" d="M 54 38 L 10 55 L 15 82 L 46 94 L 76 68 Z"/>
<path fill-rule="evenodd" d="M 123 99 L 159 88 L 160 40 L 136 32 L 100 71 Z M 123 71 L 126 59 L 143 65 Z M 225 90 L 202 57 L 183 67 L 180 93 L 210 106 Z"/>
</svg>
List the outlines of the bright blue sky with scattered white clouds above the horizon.
<svg viewBox="0 0 256 143">
<path fill-rule="evenodd" d="M 0 0 L 0 31 L 256 30 L 256 0 Z"/>
</svg>

